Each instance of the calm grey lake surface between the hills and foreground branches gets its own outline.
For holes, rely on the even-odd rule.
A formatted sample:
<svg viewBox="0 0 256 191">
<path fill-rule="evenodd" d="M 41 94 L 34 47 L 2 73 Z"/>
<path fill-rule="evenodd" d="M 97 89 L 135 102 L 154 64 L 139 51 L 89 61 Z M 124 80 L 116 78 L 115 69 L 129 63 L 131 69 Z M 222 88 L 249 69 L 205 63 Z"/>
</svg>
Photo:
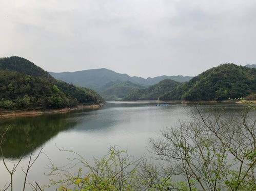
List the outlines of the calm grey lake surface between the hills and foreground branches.
<svg viewBox="0 0 256 191">
<path fill-rule="evenodd" d="M 178 120 L 186 120 L 186 110 L 192 105 L 169 103 L 169 106 L 155 106 L 153 102 L 108 102 L 99 110 L 73 111 L 62 114 L 18 117 L 1 120 L 0 131 L 9 126 L 3 145 L 8 166 L 17 162 L 29 143 L 33 143 L 33 156 L 43 148 L 54 164 L 67 163 L 69 153 L 58 151 L 57 147 L 73 150 L 83 155 L 88 161 L 93 156 L 100 157 L 107 153 L 109 146 L 121 146 L 128 153 L 140 157 L 146 155 L 149 137 L 157 137 L 160 130 L 175 126 Z M 226 107 L 227 114 L 240 109 L 238 104 L 205 104 L 207 111 L 213 107 Z M 23 182 L 21 166 L 26 166 L 29 151 L 14 175 L 16 190 Z M 36 160 L 29 173 L 28 182 L 37 181 L 40 185 L 48 184 L 46 165 L 47 157 L 42 154 Z M 7 171 L 0 159 L 0 190 L 9 180 Z M 28 187 L 29 188 L 29 187 Z"/>
</svg>

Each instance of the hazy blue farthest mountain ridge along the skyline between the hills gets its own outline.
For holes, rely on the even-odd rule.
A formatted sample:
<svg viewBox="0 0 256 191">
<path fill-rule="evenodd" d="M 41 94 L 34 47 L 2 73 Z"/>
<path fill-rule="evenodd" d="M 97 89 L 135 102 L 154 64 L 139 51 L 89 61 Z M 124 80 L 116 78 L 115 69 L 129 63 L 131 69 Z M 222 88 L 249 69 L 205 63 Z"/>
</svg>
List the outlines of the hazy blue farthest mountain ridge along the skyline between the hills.
<svg viewBox="0 0 256 191">
<path fill-rule="evenodd" d="M 178 82 L 185 82 L 190 80 L 192 77 L 189 76 L 160 76 L 155 78 L 141 78 L 141 77 L 130 77 L 127 74 L 119 74 L 115 71 L 109 69 L 89 69 L 83 71 L 75 72 L 63 72 L 63 73 L 53 73 L 49 72 L 54 78 L 62 80 L 68 83 L 72 83 L 82 87 L 89 87 L 96 91 L 102 91 L 102 86 L 109 82 L 121 81 L 126 82 L 130 81 L 134 84 L 141 85 L 153 85 L 159 83 L 165 79 L 172 79 Z"/>
</svg>

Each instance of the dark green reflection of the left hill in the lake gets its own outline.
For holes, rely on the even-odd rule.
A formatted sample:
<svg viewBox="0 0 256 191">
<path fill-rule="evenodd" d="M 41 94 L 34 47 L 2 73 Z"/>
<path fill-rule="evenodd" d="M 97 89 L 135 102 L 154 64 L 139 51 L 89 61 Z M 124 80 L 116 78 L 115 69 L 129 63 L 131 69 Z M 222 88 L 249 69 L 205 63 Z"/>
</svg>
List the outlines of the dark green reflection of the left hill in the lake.
<svg viewBox="0 0 256 191">
<path fill-rule="evenodd" d="M 78 122 L 72 120 L 71 113 L 40 115 L 33 117 L 6 118 L 0 121 L 0 133 L 9 127 L 2 146 L 5 157 L 20 157 L 27 143 L 34 149 L 42 147 L 46 141 L 63 130 L 74 127 Z M 27 155 L 31 150 L 27 150 Z M 0 153 L 1 156 L 1 153 Z"/>
</svg>

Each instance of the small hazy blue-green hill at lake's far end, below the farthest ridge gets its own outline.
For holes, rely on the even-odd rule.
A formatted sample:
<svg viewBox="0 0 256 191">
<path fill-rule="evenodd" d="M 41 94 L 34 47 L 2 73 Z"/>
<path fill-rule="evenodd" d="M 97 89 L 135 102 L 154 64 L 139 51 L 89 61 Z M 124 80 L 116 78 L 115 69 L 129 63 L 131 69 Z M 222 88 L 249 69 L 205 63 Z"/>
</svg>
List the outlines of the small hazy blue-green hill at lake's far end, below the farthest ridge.
<svg viewBox="0 0 256 191">
<path fill-rule="evenodd" d="M 134 84 L 130 81 L 111 81 L 102 86 L 102 91 L 99 93 L 105 100 L 116 100 L 123 98 L 126 94 L 130 93 L 134 89 L 143 88 L 145 86 L 140 84 Z"/>
</svg>

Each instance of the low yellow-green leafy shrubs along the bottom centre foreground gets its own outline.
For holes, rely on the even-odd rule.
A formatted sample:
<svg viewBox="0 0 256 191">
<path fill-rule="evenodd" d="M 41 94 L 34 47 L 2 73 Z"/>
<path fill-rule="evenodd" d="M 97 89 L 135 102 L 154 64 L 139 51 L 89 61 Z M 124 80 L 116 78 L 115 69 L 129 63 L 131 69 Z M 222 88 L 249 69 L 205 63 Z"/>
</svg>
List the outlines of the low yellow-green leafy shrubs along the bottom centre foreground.
<svg viewBox="0 0 256 191">
<path fill-rule="evenodd" d="M 173 190 L 197 191 L 195 187 L 189 189 L 184 181 L 175 182 L 170 175 L 163 176 L 159 171 L 146 165 L 144 157 L 134 159 L 127 151 L 115 146 L 110 147 L 107 155 L 94 158 L 94 163 L 89 164 L 81 155 L 71 152 L 75 158 L 69 159 L 67 165 L 57 167 L 50 160 L 51 184 L 46 187 L 57 186 L 59 190 L 104 190 L 104 191 L 135 191 L 135 190 Z M 82 166 L 82 167 L 78 167 Z M 74 172 L 74 173 L 71 173 Z M 149 174 L 148 174 L 149 173 Z M 57 180 L 56 180 L 57 179 Z M 196 181 L 191 179 L 191 183 Z"/>
</svg>

